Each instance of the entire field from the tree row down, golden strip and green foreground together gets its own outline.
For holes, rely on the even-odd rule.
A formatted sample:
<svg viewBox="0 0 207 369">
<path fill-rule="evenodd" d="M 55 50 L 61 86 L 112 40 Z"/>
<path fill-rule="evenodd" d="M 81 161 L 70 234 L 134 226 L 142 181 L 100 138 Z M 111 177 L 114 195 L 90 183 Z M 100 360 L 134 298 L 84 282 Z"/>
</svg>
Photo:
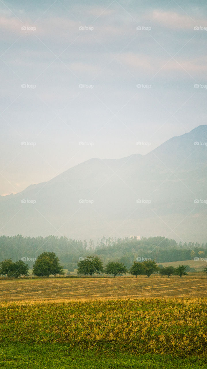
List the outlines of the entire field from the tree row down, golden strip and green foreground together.
<svg viewBox="0 0 207 369">
<path fill-rule="evenodd" d="M 207 277 L 0 280 L 0 368 L 207 368 Z"/>
</svg>

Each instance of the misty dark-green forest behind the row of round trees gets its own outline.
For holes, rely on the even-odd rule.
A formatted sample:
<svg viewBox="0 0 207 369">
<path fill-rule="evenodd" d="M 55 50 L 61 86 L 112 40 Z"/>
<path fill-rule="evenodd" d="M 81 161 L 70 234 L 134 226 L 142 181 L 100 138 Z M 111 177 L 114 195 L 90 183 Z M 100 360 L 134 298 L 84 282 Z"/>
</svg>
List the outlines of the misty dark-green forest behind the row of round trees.
<svg viewBox="0 0 207 369">
<path fill-rule="evenodd" d="M 125 237 L 113 239 L 102 237 L 96 245 L 94 241 L 67 237 L 23 237 L 16 235 L 0 237 L 0 262 L 11 258 L 18 261 L 27 259 L 29 269 L 33 268 L 32 259 L 37 258 L 39 250 L 54 252 L 60 259 L 64 269 L 73 272 L 77 268 L 80 255 L 95 253 L 106 265 L 109 261 L 120 262 L 130 268 L 137 257 L 151 258 L 157 263 L 192 260 L 194 257 L 207 257 L 207 243 L 176 242 L 165 237 Z"/>
</svg>

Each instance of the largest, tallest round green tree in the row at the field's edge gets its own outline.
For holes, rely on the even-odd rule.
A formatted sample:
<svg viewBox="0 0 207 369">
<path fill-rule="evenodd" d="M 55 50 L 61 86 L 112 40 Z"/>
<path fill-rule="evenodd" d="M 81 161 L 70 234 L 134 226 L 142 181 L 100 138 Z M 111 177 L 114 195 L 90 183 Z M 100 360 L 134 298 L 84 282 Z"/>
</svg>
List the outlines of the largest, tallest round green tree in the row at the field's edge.
<svg viewBox="0 0 207 369">
<path fill-rule="evenodd" d="M 33 265 L 32 274 L 40 277 L 49 277 L 51 274 L 54 276 L 57 274 L 64 275 L 64 269 L 60 265 L 59 259 L 54 252 L 44 251 L 36 259 Z"/>
</svg>

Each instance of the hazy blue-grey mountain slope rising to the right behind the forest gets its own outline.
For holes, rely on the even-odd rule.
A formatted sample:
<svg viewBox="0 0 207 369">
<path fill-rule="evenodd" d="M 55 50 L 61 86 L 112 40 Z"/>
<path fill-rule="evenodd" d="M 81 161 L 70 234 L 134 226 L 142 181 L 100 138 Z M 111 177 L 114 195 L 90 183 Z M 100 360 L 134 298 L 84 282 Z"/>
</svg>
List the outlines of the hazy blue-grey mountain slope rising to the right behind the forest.
<svg viewBox="0 0 207 369">
<path fill-rule="evenodd" d="M 1 232 L 206 242 L 206 145 L 207 125 L 200 125 L 147 155 L 90 159 L 48 182 L 1 196 Z"/>
</svg>

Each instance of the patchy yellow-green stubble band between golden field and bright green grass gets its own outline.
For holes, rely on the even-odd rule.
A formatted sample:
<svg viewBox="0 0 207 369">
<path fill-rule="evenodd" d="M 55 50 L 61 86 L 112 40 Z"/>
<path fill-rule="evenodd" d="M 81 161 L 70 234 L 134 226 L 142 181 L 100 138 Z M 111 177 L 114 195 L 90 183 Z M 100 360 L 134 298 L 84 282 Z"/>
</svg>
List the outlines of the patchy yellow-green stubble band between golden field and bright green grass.
<svg viewBox="0 0 207 369">
<path fill-rule="evenodd" d="M 206 322 L 207 299 L 1 303 L 0 342 L 199 355 L 207 348 Z"/>
</svg>

